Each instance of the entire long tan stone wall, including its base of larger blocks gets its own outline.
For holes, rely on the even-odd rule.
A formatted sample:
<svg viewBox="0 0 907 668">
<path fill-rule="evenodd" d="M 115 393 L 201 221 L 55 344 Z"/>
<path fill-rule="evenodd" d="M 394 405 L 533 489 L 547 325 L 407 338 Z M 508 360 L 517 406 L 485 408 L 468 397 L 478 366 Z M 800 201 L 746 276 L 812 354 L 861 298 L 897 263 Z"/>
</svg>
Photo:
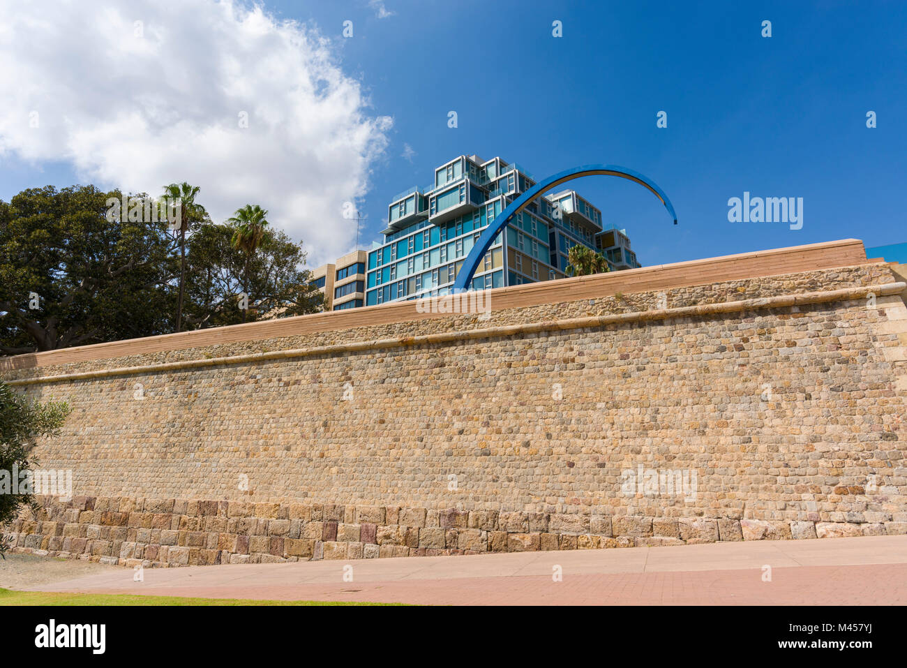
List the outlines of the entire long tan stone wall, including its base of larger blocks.
<svg viewBox="0 0 907 668">
<path fill-rule="evenodd" d="M 898 280 L 863 264 L 6 371 L 73 405 L 38 455 L 77 495 L 9 531 L 146 565 L 904 534 Z M 695 472 L 695 494 L 628 493 L 640 467 Z"/>
</svg>

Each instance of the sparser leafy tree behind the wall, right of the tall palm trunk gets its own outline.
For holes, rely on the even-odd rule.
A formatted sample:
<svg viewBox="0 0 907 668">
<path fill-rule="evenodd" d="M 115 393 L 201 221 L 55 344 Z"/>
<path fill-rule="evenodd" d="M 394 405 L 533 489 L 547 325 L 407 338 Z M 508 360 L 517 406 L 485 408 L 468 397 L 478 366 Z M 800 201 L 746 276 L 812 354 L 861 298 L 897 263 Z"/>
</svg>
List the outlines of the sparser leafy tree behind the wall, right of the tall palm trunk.
<svg viewBox="0 0 907 668">
<path fill-rule="evenodd" d="M 321 309 L 324 295 L 304 269 L 306 252 L 281 231 L 268 231 L 254 252 L 235 243 L 239 224 L 205 224 L 192 234 L 187 256 L 186 322 L 219 327 Z M 241 309 L 245 293 L 249 309 Z"/>
</svg>

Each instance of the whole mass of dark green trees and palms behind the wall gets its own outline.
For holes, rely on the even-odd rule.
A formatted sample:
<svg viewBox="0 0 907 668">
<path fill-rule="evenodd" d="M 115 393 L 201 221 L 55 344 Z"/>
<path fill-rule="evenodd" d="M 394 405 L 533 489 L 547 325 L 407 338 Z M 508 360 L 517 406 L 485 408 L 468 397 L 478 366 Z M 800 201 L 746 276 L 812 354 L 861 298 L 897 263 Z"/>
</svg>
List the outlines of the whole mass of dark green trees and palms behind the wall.
<svg viewBox="0 0 907 668">
<path fill-rule="evenodd" d="M 256 232 L 264 229 L 267 211 L 247 206 L 251 227 L 249 221 L 217 224 L 194 201 L 197 188 L 183 183 L 178 190 L 187 188 L 193 200 L 181 231 L 169 229 L 158 215 L 157 221 L 136 220 L 148 217 L 125 211 L 109 215 L 109 201 L 122 200 L 123 193 L 92 185 L 33 188 L 0 201 L 0 353 L 176 330 L 181 233 L 183 329 L 320 309 L 322 296 L 309 285 L 301 242 L 279 231 Z M 254 243 L 245 241 L 249 232 Z M 243 242 L 234 247 L 234 238 Z M 243 292 L 247 311 L 239 309 Z"/>
</svg>

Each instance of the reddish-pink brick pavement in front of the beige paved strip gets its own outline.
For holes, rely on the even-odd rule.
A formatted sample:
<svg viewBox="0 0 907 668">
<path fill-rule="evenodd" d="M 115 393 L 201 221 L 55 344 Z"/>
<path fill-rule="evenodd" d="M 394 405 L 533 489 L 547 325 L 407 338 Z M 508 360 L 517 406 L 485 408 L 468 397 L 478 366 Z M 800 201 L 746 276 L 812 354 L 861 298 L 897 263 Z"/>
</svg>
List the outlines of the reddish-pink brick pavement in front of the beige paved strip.
<svg viewBox="0 0 907 668">
<path fill-rule="evenodd" d="M 210 598 L 440 605 L 801 605 L 907 604 L 907 564 L 761 569 L 451 578 L 318 585 L 154 586 L 91 589 Z M 75 591 L 67 587 L 68 591 Z"/>
</svg>

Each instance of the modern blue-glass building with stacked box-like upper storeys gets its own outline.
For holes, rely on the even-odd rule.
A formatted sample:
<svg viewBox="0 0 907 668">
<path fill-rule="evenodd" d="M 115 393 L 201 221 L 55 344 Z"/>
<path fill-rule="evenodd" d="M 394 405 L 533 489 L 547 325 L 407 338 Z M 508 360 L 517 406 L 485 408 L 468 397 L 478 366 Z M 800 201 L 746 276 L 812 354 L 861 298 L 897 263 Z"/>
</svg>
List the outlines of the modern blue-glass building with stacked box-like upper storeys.
<svg viewBox="0 0 907 668">
<path fill-rule="evenodd" d="M 447 294 L 484 227 L 534 184 L 515 162 L 461 155 L 429 186 L 398 194 L 384 243 L 368 251 L 366 305 Z M 505 232 L 485 253 L 474 290 L 563 278 L 576 244 L 600 251 L 612 270 L 640 266 L 624 231 L 603 230 L 601 211 L 575 191 L 532 201 Z"/>
</svg>

